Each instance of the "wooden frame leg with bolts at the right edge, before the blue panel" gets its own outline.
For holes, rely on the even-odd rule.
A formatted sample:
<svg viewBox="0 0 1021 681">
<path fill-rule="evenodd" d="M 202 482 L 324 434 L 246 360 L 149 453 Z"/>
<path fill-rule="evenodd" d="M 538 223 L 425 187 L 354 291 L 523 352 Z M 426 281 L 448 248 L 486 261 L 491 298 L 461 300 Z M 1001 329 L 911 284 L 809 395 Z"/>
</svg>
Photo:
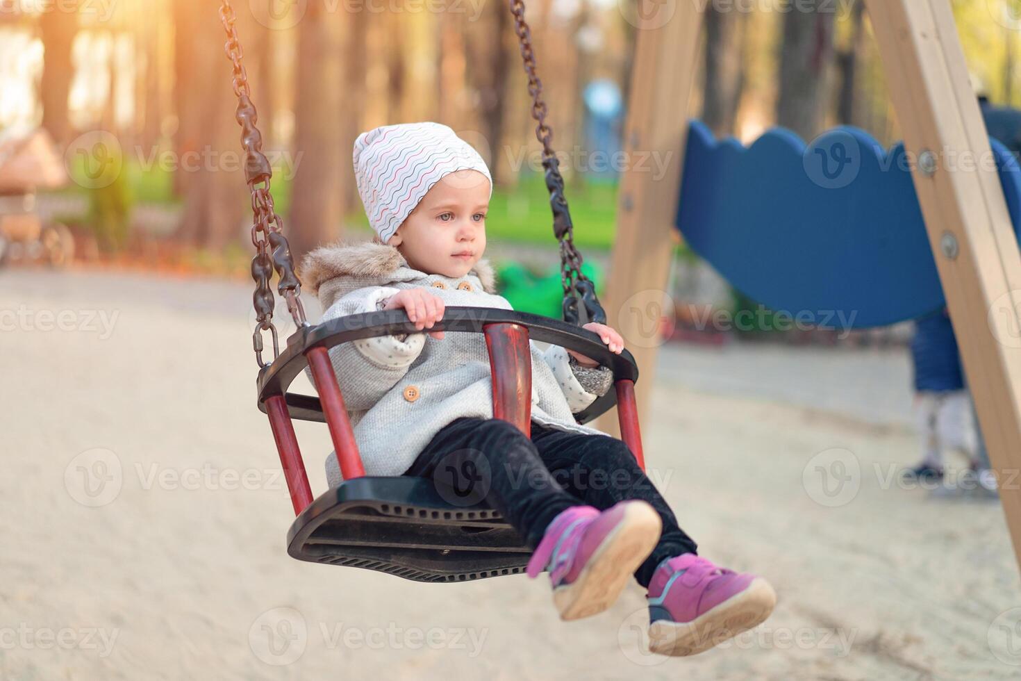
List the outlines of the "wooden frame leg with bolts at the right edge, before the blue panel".
<svg viewBox="0 0 1021 681">
<path fill-rule="evenodd" d="M 866 0 L 1021 564 L 1021 252 L 949 0 Z M 928 160 L 928 157 L 926 158 Z"/>
</svg>

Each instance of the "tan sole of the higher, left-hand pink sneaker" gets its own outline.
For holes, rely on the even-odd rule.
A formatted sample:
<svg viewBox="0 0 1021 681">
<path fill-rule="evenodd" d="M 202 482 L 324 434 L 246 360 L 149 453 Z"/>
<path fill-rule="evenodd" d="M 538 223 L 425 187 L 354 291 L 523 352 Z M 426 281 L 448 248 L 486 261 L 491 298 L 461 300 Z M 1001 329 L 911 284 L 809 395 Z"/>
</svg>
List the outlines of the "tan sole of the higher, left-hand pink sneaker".
<svg viewBox="0 0 1021 681">
<path fill-rule="evenodd" d="M 628 504 L 624 518 L 595 549 L 573 584 L 553 589 L 562 620 L 580 620 L 610 607 L 660 541 L 663 521 L 651 504 Z"/>
</svg>

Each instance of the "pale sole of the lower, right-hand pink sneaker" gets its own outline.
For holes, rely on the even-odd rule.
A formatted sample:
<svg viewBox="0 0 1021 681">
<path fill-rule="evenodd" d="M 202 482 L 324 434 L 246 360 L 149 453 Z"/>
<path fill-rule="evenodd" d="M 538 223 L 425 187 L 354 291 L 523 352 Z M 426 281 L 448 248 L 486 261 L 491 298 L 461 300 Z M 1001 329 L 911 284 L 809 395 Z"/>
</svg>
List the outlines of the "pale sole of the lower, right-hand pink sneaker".
<svg viewBox="0 0 1021 681">
<path fill-rule="evenodd" d="M 648 628 L 648 649 L 683 658 L 698 654 L 728 638 L 759 626 L 773 612 L 776 591 L 762 577 L 691 622 L 653 622 Z"/>
</svg>

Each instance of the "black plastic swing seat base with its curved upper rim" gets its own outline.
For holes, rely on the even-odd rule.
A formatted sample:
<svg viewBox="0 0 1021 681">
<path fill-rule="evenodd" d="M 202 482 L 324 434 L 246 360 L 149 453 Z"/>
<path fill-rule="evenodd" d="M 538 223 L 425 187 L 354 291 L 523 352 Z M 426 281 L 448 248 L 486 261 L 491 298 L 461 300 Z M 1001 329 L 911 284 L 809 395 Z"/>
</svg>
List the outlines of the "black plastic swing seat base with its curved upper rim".
<svg viewBox="0 0 1021 681">
<path fill-rule="evenodd" d="M 584 352 L 613 369 L 615 381 L 633 383 L 638 378 L 637 364 L 628 350 L 613 353 L 593 332 L 561 320 L 492 307 L 451 306 L 434 329 L 481 334 L 488 325 L 525 327 L 530 340 Z M 401 309 L 299 327 L 280 355 L 259 372 L 259 409 L 269 412 L 268 400 L 283 398 L 291 419 L 326 421 L 319 397 L 288 392 L 295 377 L 308 366 L 308 351 L 416 331 Z M 494 395 L 494 405 L 495 401 Z M 616 403 L 617 392 L 610 390 L 575 419 L 579 424 L 587 423 Z M 273 419 L 271 414 L 271 423 Z M 281 449 L 278 442 L 278 449 L 282 458 L 296 457 L 294 469 L 303 469 L 296 442 L 289 451 Z M 293 500 L 294 489 L 291 492 Z M 467 582 L 525 572 L 532 551 L 518 532 L 484 501 L 477 505 L 463 501 L 453 488 L 432 479 L 351 478 L 300 510 L 288 532 L 287 552 L 299 561 L 363 568 L 419 582 Z"/>
</svg>

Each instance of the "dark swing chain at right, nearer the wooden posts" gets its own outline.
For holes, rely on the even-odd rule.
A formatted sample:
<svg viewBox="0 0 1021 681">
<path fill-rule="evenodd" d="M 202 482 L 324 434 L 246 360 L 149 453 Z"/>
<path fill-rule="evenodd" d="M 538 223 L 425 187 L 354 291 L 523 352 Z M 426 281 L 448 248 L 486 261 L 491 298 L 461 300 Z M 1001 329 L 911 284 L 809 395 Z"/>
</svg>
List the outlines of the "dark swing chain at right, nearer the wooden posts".
<svg viewBox="0 0 1021 681">
<path fill-rule="evenodd" d="M 595 295 L 595 285 L 582 273 L 582 255 L 574 245 L 574 224 L 564 194 L 564 178 L 561 176 L 560 160 L 552 147 L 553 130 L 546 124 L 546 102 L 542 99 L 542 81 L 535 67 L 535 52 L 532 49 L 532 34 L 525 20 L 524 0 L 509 0 L 510 12 L 515 19 L 515 33 L 521 43 L 521 56 L 528 76 L 528 92 L 532 96 L 532 117 L 538 124 L 535 137 L 542 145 L 542 166 L 545 168 L 546 189 L 549 191 L 549 205 L 553 212 L 553 234 L 561 245 L 561 283 L 564 286 L 564 320 L 581 326 L 578 298 L 585 306 L 589 322 L 606 323 L 606 312 Z"/>
</svg>

